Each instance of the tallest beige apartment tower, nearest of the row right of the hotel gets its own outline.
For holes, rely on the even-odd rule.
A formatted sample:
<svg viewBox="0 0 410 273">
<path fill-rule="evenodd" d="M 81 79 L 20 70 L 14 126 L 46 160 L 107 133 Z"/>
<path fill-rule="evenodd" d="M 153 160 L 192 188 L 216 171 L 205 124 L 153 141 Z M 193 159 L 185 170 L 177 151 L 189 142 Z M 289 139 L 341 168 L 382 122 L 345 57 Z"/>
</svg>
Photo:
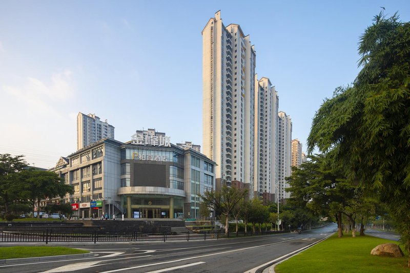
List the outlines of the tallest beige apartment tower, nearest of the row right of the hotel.
<svg viewBox="0 0 410 273">
<path fill-rule="evenodd" d="M 215 13 L 202 30 L 202 150 L 216 188 L 243 183 L 254 196 L 255 59 L 249 35 Z"/>
</svg>

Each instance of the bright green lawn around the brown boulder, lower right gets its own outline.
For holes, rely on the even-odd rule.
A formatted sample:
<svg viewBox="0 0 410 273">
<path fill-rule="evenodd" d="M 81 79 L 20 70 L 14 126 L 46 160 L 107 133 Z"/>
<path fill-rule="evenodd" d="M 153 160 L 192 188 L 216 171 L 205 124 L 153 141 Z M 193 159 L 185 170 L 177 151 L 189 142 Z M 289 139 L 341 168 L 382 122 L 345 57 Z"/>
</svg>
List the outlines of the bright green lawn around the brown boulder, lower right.
<svg viewBox="0 0 410 273">
<path fill-rule="evenodd" d="M 396 243 L 372 236 L 337 234 L 314 245 L 302 253 L 275 266 L 275 272 L 410 272 L 406 253 L 403 258 L 379 257 L 370 254 L 383 243 Z M 404 252 L 404 247 L 401 246 Z"/>
</svg>

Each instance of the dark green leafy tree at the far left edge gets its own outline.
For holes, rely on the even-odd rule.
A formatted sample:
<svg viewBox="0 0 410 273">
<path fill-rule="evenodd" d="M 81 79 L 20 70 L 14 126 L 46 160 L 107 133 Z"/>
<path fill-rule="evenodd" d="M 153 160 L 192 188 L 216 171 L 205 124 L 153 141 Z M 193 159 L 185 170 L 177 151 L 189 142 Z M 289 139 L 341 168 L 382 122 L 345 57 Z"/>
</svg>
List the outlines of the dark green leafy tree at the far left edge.
<svg viewBox="0 0 410 273">
<path fill-rule="evenodd" d="M 27 166 L 23 158 L 23 155 L 0 154 L 0 198 L 4 201 L 6 214 L 10 211 L 9 205 L 20 199 L 16 174 Z"/>
</svg>

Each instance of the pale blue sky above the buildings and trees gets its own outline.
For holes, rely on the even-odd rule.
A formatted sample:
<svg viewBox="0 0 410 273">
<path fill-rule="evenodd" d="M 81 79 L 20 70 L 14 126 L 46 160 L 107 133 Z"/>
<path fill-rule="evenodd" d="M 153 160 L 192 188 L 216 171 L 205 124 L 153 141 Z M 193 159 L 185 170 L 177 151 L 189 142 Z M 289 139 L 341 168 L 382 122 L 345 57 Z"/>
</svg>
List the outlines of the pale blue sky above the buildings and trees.
<svg viewBox="0 0 410 273">
<path fill-rule="evenodd" d="M 2 1 L 0 153 L 52 167 L 76 150 L 76 115 L 95 113 L 128 141 L 155 128 L 202 145 L 201 30 L 221 10 L 256 49 L 279 110 L 306 149 L 325 97 L 351 83 L 357 43 L 385 7 L 408 1 Z"/>
</svg>

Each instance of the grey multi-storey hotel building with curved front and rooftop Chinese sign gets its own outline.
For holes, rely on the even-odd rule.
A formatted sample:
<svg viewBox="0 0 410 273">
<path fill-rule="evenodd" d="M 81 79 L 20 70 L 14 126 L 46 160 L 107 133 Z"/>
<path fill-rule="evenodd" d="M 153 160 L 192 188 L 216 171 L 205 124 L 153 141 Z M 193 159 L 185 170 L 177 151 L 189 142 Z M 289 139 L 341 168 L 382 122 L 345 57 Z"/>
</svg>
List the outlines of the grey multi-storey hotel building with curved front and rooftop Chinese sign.
<svg viewBox="0 0 410 273">
<path fill-rule="evenodd" d="M 215 189 L 214 169 L 165 134 L 137 131 L 126 143 L 105 138 L 61 157 L 50 171 L 73 186 L 63 202 L 79 218 L 199 218 L 199 194 Z"/>
</svg>

